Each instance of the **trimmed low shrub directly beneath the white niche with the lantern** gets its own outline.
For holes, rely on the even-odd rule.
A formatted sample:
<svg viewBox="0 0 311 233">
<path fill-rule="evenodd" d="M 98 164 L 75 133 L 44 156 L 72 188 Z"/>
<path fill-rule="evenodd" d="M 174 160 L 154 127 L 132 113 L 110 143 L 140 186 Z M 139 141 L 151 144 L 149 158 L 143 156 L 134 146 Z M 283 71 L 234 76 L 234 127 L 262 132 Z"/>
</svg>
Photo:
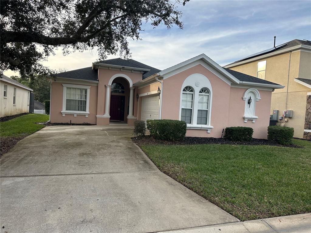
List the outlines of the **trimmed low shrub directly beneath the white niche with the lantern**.
<svg viewBox="0 0 311 233">
<path fill-rule="evenodd" d="M 251 127 L 227 127 L 225 130 L 226 138 L 232 141 L 251 141 L 253 138 L 253 128 Z"/>
</svg>

